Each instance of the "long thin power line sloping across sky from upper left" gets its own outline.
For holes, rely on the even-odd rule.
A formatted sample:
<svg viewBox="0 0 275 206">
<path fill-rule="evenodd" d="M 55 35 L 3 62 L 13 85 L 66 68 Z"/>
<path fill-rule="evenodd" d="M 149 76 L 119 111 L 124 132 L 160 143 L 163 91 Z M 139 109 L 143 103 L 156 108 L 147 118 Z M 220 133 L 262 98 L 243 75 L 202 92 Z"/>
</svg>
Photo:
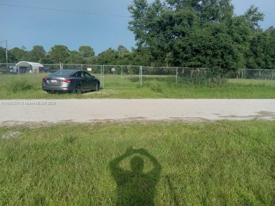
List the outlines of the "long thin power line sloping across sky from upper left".
<svg viewBox="0 0 275 206">
<path fill-rule="evenodd" d="M 221 1 L 221 0 L 220 0 Z M 174 22 L 174 23 L 190 23 L 190 24 L 200 24 L 200 25 L 212 25 L 210 23 L 198 23 L 198 22 L 188 22 L 188 21 L 173 21 L 173 20 L 166 20 L 166 19 L 151 19 L 151 18 L 144 18 L 144 17 L 131 17 L 131 16 L 122 16 L 122 15 L 113 15 L 113 14 L 102 14 L 102 13 L 93 13 L 93 12 L 85 12 L 85 11 L 69 11 L 69 10 L 61 10 L 61 9 L 49 9 L 49 8 L 42 8 L 42 7 L 30 7 L 30 6 L 20 6 L 20 5 L 10 5 L 10 4 L 0 4 L 4 6 L 14 6 L 14 7 L 25 7 L 31 9 L 43 9 L 43 10 L 52 10 L 52 11 L 65 11 L 65 12 L 76 12 L 76 13 L 88 13 L 93 15 L 105 15 L 105 16 L 115 16 L 115 17 L 126 17 L 126 18 L 133 18 L 133 19 L 144 19 L 148 21 L 166 21 L 166 22 Z M 228 26 L 232 28 L 247 28 L 247 27 L 237 27 L 237 26 Z"/>
</svg>

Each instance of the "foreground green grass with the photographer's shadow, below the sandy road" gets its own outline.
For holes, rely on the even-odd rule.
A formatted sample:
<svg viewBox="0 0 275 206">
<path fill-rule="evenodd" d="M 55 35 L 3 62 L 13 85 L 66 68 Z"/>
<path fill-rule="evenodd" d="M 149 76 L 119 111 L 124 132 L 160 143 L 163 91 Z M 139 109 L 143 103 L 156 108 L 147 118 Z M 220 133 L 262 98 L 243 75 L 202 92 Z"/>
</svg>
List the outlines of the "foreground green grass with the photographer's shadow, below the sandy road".
<svg viewBox="0 0 275 206">
<path fill-rule="evenodd" d="M 0 205 L 274 205 L 275 122 L 0 127 Z"/>
</svg>

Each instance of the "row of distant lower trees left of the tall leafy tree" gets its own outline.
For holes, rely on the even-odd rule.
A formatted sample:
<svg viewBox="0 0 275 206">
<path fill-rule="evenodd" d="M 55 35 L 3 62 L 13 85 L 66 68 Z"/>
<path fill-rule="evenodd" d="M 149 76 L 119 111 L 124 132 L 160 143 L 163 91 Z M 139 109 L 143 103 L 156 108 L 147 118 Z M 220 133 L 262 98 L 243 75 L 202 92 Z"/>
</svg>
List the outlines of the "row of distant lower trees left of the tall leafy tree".
<svg viewBox="0 0 275 206">
<path fill-rule="evenodd" d="M 146 53 L 141 53 L 141 51 L 149 52 L 148 49 L 134 48 L 129 51 L 125 46 L 119 45 L 117 49 L 109 48 L 95 56 L 95 51 L 91 46 L 80 46 L 78 51 L 70 51 L 65 45 L 54 45 L 48 52 L 41 45 L 33 46 L 31 51 L 27 51 L 22 46 L 8 50 L 8 63 L 26 61 L 41 64 L 145 65 L 149 62 L 149 58 L 143 59 Z M 6 49 L 0 47 L 0 63 L 5 62 Z"/>
</svg>

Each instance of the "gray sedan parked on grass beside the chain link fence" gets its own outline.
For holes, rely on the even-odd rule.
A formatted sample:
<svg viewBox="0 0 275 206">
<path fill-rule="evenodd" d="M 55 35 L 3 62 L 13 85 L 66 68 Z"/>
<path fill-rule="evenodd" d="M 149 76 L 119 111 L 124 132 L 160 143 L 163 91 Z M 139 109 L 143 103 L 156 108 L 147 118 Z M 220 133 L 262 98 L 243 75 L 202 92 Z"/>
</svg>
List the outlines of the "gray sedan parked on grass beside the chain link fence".
<svg viewBox="0 0 275 206">
<path fill-rule="evenodd" d="M 42 80 L 42 90 L 46 92 L 72 92 L 80 94 L 84 91 L 100 88 L 97 78 L 81 70 L 59 70 Z"/>
</svg>

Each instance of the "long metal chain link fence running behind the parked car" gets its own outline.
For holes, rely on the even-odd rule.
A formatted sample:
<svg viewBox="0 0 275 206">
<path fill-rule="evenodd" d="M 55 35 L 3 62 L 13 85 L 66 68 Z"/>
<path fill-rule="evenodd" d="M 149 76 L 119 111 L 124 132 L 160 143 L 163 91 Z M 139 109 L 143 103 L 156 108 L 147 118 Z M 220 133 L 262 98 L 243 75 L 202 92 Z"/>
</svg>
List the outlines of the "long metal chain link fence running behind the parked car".
<svg viewBox="0 0 275 206">
<path fill-rule="evenodd" d="M 224 82 L 239 85 L 262 84 L 275 86 L 275 69 L 239 69 L 221 77 L 210 68 L 38 64 L 27 62 L 0 64 L 0 81 L 16 76 L 20 78 L 21 75 L 25 78 L 40 80 L 41 77 L 65 69 L 86 71 L 98 78 L 103 88 L 136 88 L 148 84 L 209 86 L 211 84 L 223 84 Z"/>
</svg>

